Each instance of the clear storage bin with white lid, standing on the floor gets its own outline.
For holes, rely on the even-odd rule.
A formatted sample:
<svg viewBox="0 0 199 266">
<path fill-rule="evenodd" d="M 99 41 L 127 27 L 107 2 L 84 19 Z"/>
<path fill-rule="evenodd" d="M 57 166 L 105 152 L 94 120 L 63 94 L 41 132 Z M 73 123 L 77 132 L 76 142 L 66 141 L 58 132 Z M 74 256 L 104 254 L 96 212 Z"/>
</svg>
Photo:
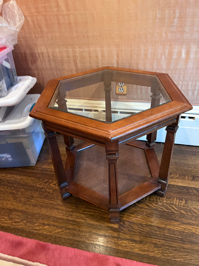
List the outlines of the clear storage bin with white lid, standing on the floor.
<svg viewBox="0 0 199 266">
<path fill-rule="evenodd" d="M 0 123 L 0 168 L 35 165 L 45 139 L 41 121 L 29 116 L 40 94 L 28 94 Z"/>
</svg>

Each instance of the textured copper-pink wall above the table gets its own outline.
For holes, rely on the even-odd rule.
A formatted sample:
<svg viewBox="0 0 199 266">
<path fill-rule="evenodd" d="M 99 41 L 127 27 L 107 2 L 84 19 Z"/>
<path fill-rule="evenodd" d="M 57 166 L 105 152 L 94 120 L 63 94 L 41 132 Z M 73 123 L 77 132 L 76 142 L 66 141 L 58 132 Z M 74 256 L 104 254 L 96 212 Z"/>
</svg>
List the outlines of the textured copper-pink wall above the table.
<svg viewBox="0 0 199 266">
<path fill-rule="evenodd" d="M 17 0 L 25 22 L 13 56 L 38 80 L 102 66 L 168 73 L 199 104 L 198 0 Z"/>
</svg>

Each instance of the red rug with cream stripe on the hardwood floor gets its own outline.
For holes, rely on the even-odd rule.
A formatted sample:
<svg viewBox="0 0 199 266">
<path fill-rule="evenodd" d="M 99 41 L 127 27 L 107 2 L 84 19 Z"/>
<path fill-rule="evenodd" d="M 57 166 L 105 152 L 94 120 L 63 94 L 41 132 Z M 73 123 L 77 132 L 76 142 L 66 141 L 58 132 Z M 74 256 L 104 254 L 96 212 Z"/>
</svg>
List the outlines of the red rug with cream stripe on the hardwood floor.
<svg viewBox="0 0 199 266">
<path fill-rule="evenodd" d="M 152 266 L 0 232 L 1 266 Z M 157 266 L 157 265 L 154 265 Z"/>
</svg>

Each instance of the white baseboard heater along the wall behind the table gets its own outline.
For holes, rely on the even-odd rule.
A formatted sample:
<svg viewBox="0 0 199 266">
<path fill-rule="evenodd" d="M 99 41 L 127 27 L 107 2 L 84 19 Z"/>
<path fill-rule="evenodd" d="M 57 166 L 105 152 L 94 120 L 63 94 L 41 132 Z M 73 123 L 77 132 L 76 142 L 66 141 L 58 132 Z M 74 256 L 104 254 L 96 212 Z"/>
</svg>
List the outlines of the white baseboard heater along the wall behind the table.
<svg viewBox="0 0 199 266">
<path fill-rule="evenodd" d="M 67 108 L 71 113 L 87 116 L 93 119 L 105 121 L 105 100 L 88 100 L 66 98 Z M 56 106 L 57 104 L 55 104 Z M 125 106 L 125 108 L 124 108 Z M 138 113 L 150 108 L 149 102 L 123 102 L 112 101 L 112 116 L 117 119 L 126 117 L 130 113 Z M 157 131 L 157 142 L 165 142 L 165 127 Z M 146 136 L 139 140 L 146 140 Z M 193 105 L 193 109 L 181 115 L 179 129 L 175 137 L 175 144 L 199 146 L 199 105 Z"/>
</svg>

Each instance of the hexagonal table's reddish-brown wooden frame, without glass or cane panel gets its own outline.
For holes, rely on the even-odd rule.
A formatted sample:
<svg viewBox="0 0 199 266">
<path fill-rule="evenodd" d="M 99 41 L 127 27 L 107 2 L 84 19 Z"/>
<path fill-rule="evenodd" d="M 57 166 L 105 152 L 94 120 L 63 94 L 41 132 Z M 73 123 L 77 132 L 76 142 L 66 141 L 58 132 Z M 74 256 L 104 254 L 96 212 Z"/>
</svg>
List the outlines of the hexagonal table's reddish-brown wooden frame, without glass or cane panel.
<svg viewBox="0 0 199 266">
<path fill-rule="evenodd" d="M 78 115 L 48 107 L 60 80 L 78 77 L 80 75 L 105 69 L 157 75 L 172 101 L 110 124 L 86 117 L 79 117 Z M 105 90 L 107 90 L 107 92 L 109 85 L 110 84 L 108 83 L 105 84 Z M 152 89 L 151 106 L 153 106 L 153 104 L 155 104 L 154 102 L 157 102 L 158 100 L 158 95 L 156 95 Z M 181 114 L 190 109 L 192 109 L 192 106 L 167 74 L 105 67 L 50 80 L 39 100 L 33 107 L 30 116 L 40 119 L 43 122 L 43 129 L 49 143 L 55 175 L 63 199 L 74 194 L 108 210 L 110 222 L 118 223 L 119 212 L 134 202 L 155 191 L 161 196 L 165 195 L 175 134 L 178 129 Z M 107 119 L 110 119 L 110 117 L 107 117 Z M 167 135 L 161 164 L 159 165 L 154 150 L 155 140 L 157 129 L 165 126 Z M 59 152 L 55 131 L 62 133 L 64 136 L 67 152 L 65 166 L 63 165 Z M 146 143 L 136 141 L 138 137 L 143 135 L 147 135 Z M 73 137 L 85 140 L 86 142 L 75 147 Z M 105 147 L 106 159 L 108 162 L 109 197 L 73 182 L 77 152 L 94 144 Z M 117 184 L 117 159 L 119 145 L 124 144 L 138 147 L 145 151 L 152 178 L 119 196 Z"/>
</svg>

